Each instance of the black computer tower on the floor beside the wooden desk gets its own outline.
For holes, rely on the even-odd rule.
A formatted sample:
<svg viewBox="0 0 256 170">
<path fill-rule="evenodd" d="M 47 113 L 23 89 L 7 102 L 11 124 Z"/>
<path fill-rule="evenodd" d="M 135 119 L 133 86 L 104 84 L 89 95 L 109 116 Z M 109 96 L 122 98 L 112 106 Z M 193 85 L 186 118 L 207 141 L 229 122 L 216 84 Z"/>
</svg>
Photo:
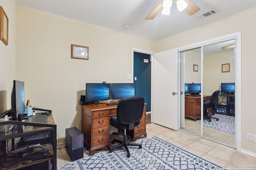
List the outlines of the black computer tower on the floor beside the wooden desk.
<svg viewBox="0 0 256 170">
<path fill-rule="evenodd" d="M 84 134 L 76 127 L 66 129 L 66 151 L 72 161 L 84 157 Z"/>
</svg>

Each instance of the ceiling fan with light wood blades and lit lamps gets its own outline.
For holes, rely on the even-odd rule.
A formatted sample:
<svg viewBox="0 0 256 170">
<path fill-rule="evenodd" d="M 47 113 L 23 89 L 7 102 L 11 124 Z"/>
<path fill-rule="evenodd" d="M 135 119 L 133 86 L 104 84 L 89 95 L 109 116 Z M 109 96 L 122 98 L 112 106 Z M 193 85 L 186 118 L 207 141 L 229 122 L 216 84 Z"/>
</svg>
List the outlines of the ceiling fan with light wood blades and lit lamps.
<svg viewBox="0 0 256 170">
<path fill-rule="evenodd" d="M 200 10 L 198 6 L 190 2 L 189 0 L 174 0 L 179 11 L 184 10 L 189 16 L 192 16 Z M 162 10 L 162 14 L 170 15 L 170 8 L 172 6 L 172 0 L 163 0 L 156 6 L 156 8 L 147 16 L 145 20 L 152 20 Z"/>
</svg>

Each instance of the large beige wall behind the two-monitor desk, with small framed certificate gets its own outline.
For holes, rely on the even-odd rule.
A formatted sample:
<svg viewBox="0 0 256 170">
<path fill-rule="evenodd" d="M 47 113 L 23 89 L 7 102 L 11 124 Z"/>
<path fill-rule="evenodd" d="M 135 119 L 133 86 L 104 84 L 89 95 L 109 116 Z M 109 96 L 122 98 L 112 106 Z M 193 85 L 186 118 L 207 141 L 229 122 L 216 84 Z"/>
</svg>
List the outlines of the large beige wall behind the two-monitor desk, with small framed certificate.
<svg viewBox="0 0 256 170">
<path fill-rule="evenodd" d="M 86 82 L 132 82 L 132 48 L 154 41 L 17 6 L 16 77 L 32 106 L 52 109 L 57 133 L 79 127 Z M 89 47 L 89 60 L 71 59 L 71 44 Z"/>
</svg>

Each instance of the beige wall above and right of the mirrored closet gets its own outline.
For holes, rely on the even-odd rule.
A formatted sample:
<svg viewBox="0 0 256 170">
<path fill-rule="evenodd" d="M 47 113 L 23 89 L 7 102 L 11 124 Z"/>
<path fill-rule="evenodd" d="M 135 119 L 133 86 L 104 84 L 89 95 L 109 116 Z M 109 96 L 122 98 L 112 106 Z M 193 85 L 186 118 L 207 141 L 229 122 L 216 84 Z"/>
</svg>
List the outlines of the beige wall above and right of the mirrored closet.
<svg viewBox="0 0 256 170">
<path fill-rule="evenodd" d="M 156 51 L 164 51 L 182 47 L 207 39 L 228 35 L 241 31 L 242 33 L 242 149 L 256 153 L 256 143 L 246 140 L 246 133 L 256 135 L 256 102 L 253 89 L 256 79 L 255 46 L 256 46 L 256 7 L 239 12 L 218 21 L 178 33 L 156 42 Z"/>
</svg>

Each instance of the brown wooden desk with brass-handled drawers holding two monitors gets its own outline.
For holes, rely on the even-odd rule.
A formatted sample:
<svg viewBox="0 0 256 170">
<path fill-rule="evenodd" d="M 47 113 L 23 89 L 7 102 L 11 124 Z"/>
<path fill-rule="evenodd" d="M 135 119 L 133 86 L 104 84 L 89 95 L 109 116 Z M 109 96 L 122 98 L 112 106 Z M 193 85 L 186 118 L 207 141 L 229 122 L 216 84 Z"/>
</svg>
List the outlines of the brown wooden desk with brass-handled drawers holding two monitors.
<svg viewBox="0 0 256 170">
<path fill-rule="evenodd" d="M 88 104 L 82 106 L 82 133 L 84 134 L 84 144 L 89 150 L 90 155 L 94 155 L 95 150 L 106 147 L 110 148 L 110 116 L 116 115 L 117 105 L 108 106 L 106 104 Z M 126 131 L 133 141 L 146 133 L 146 104 L 142 119 L 138 127 Z"/>
</svg>

